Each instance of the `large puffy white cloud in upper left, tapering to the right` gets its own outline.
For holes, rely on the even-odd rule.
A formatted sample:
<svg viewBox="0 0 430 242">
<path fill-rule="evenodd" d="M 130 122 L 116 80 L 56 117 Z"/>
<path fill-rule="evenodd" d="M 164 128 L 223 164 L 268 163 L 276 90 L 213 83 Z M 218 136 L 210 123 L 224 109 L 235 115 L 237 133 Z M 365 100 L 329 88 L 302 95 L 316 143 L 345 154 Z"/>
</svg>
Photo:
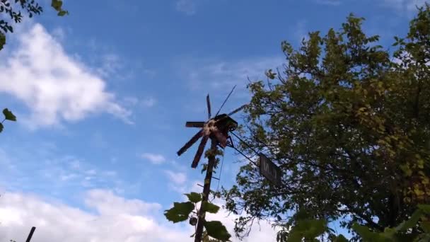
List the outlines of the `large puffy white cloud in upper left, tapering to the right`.
<svg viewBox="0 0 430 242">
<path fill-rule="evenodd" d="M 0 64 L 0 92 L 28 106 L 30 117 L 21 120 L 29 127 L 61 125 L 91 113 L 110 113 L 132 123 L 131 112 L 105 90 L 105 81 L 69 57 L 42 25 L 18 36 L 18 48 Z"/>
</svg>

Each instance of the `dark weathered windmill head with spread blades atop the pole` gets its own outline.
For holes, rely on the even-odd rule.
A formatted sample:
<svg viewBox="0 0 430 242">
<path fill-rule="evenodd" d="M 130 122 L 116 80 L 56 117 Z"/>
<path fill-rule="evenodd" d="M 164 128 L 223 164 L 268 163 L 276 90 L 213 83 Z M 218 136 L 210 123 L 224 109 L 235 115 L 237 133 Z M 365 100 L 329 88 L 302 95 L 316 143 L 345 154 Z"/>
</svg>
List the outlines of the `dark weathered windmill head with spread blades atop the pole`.
<svg viewBox="0 0 430 242">
<path fill-rule="evenodd" d="M 224 100 L 224 103 L 221 105 L 221 108 L 226 103 L 231 93 L 233 93 L 233 90 L 235 87 L 233 87 L 231 92 L 228 94 L 226 100 Z M 233 110 L 231 113 L 221 114 L 221 115 L 219 115 L 219 112 L 221 110 L 221 108 L 219 108 L 218 112 L 216 112 L 216 115 L 214 117 L 211 117 L 211 102 L 209 100 L 209 94 L 206 97 L 206 103 L 207 103 L 208 120 L 205 122 L 189 121 L 185 123 L 185 127 L 196 127 L 196 128 L 199 128 L 200 130 L 199 132 L 194 134 L 194 136 L 187 143 L 185 143 L 185 145 L 182 146 L 182 148 L 177 152 L 178 156 L 184 154 L 185 151 L 187 151 L 187 149 L 189 149 L 194 143 L 196 143 L 200 138 L 202 138 L 202 141 L 199 144 L 199 148 L 197 148 L 197 152 L 194 156 L 194 159 L 192 160 L 192 164 L 191 164 L 192 168 L 196 168 L 197 165 L 199 164 L 199 161 L 202 158 L 204 147 L 206 146 L 209 138 L 217 142 L 217 144 L 222 148 L 225 148 L 227 146 L 228 139 L 230 138 L 230 136 L 228 135 L 228 132 L 232 132 L 234 129 L 238 127 L 238 122 L 233 120 L 230 116 L 235 113 L 238 113 L 246 106 L 246 105 L 242 105 L 240 108 L 236 108 L 236 110 Z"/>
</svg>

